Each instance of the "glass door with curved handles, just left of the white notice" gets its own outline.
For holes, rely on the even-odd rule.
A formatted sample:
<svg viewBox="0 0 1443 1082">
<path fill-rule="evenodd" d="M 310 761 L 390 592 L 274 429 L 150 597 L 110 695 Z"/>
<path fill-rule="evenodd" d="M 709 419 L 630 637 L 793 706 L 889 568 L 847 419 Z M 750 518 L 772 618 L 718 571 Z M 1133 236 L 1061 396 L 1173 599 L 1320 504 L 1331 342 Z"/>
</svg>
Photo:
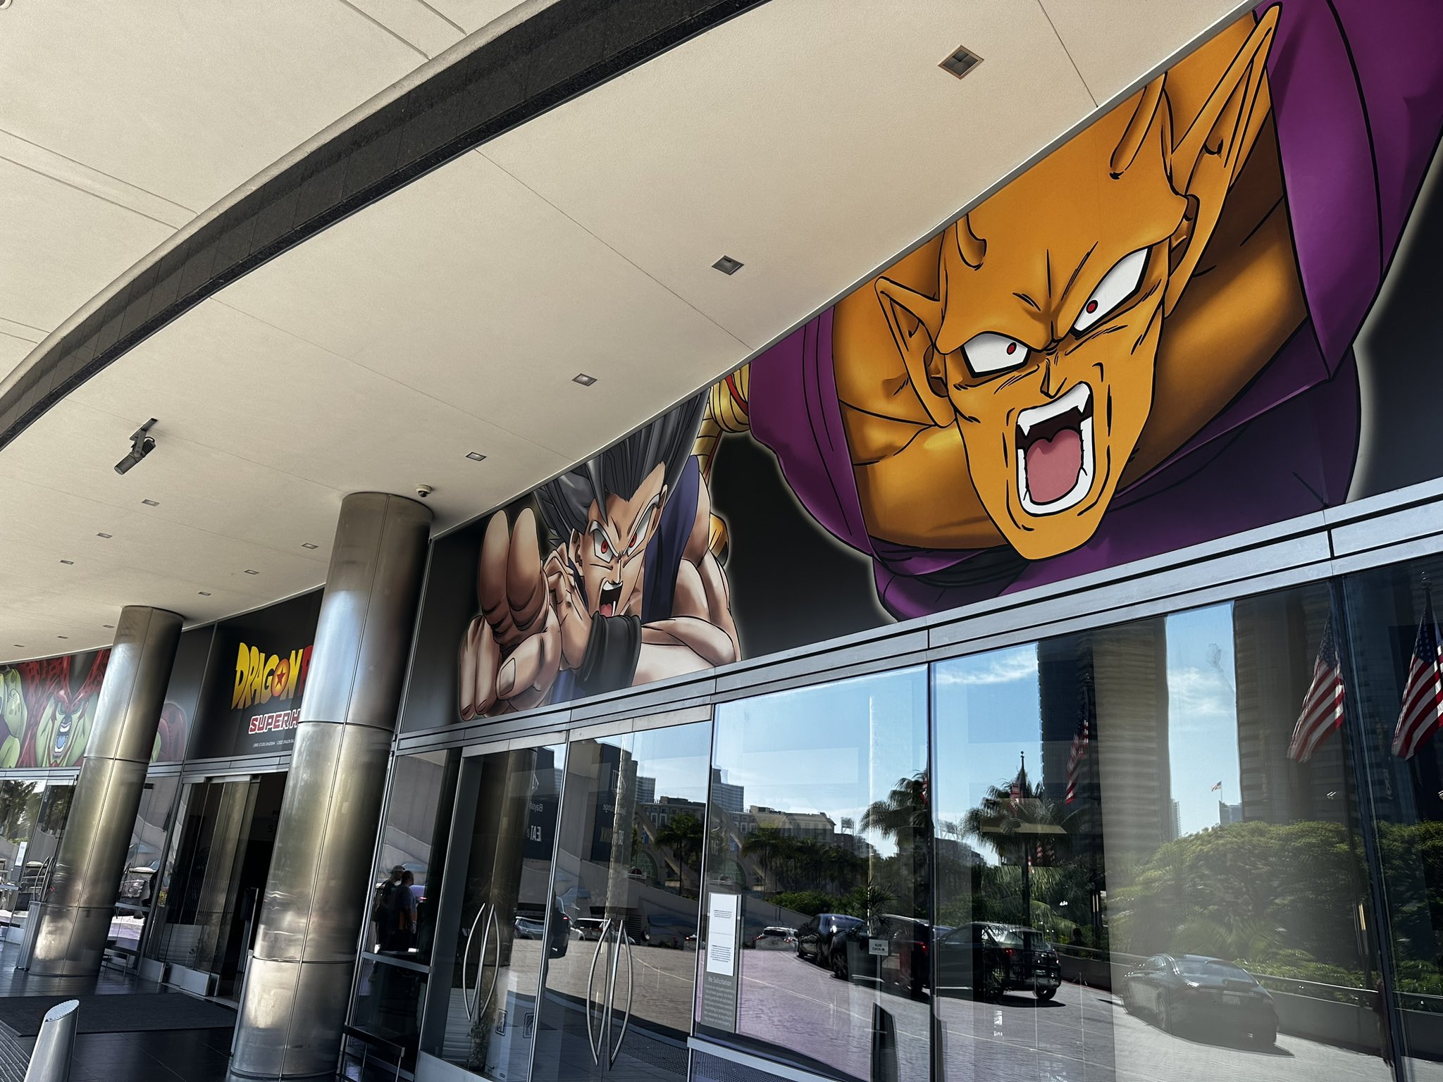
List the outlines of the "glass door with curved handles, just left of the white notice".
<svg viewBox="0 0 1443 1082">
<path fill-rule="evenodd" d="M 538 1082 L 685 1079 L 711 726 L 567 749 Z"/>
</svg>

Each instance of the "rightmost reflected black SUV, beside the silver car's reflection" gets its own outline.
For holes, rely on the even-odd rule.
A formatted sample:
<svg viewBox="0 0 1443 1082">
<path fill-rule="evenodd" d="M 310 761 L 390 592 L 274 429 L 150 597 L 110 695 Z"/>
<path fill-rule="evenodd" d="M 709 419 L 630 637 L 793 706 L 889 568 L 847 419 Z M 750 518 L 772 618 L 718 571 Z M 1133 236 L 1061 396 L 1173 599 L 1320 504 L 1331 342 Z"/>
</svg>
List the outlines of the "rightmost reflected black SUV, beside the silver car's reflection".
<svg viewBox="0 0 1443 1082">
<path fill-rule="evenodd" d="M 996 1000 L 1013 988 L 1051 1000 L 1062 984 L 1058 952 L 1042 932 L 974 922 L 937 941 L 937 984 L 941 991 L 971 988 L 974 998 Z"/>
</svg>

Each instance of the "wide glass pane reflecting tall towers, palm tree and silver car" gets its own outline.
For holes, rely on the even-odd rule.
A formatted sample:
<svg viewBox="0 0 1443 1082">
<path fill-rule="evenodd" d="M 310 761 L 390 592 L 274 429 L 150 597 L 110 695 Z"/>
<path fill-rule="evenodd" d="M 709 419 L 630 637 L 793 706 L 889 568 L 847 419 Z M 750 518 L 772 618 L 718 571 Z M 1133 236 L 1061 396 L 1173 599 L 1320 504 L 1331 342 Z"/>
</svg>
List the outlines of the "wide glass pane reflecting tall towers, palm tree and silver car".
<svg viewBox="0 0 1443 1082">
<path fill-rule="evenodd" d="M 934 667 L 939 1078 L 1390 1078 L 1332 625 L 1320 584 Z"/>
</svg>

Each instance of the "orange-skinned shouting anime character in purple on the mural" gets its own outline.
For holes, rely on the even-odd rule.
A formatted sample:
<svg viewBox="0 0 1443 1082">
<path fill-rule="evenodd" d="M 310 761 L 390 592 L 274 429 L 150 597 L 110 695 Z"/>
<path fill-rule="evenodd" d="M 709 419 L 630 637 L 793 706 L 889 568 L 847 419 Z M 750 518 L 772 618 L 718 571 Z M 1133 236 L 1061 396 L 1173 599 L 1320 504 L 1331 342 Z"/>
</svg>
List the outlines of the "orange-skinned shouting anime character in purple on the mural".
<svg viewBox="0 0 1443 1082">
<path fill-rule="evenodd" d="M 1267 6 L 758 358 L 750 428 L 900 617 L 1339 503 L 1440 123 L 1434 7 Z"/>
</svg>

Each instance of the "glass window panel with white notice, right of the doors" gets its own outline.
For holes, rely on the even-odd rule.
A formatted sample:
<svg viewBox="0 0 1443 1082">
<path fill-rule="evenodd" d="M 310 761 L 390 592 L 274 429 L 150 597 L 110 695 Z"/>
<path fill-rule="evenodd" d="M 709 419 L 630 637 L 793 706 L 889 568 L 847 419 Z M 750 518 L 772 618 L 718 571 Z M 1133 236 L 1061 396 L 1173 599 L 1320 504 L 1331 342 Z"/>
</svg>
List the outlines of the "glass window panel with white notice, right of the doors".
<svg viewBox="0 0 1443 1082">
<path fill-rule="evenodd" d="M 928 1078 L 926 711 L 921 668 L 717 707 L 698 1032 Z"/>
</svg>

